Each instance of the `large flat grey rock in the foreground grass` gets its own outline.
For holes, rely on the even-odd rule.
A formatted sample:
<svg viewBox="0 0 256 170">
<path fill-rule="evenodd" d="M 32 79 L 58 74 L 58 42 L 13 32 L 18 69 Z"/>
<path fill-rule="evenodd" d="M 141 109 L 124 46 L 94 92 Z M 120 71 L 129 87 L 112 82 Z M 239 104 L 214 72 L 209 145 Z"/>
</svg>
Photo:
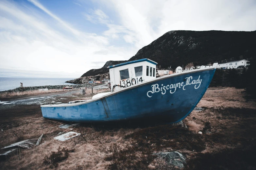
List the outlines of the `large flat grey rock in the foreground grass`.
<svg viewBox="0 0 256 170">
<path fill-rule="evenodd" d="M 181 168 L 184 168 L 184 164 L 186 163 L 186 158 L 179 152 L 161 152 L 163 158 L 165 158 L 166 163 L 174 164 Z"/>
</svg>

